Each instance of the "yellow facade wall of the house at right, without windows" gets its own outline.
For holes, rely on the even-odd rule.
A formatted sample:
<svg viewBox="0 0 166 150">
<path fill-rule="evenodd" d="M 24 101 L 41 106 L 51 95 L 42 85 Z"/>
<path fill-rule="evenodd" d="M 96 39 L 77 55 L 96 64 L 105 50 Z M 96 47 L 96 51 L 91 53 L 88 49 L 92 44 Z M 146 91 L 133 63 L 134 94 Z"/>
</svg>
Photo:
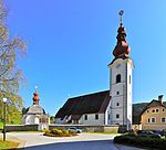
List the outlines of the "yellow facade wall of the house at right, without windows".
<svg viewBox="0 0 166 150">
<path fill-rule="evenodd" d="M 156 111 L 156 109 L 158 109 L 158 113 Z M 153 113 L 153 110 L 155 110 L 155 113 Z M 155 118 L 155 122 L 152 122 L 152 118 Z M 162 118 L 165 118 L 165 122 L 162 122 Z M 148 122 L 148 119 L 151 122 Z M 166 129 L 166 108 L 163 106 L 155 106 L 147 108 L 142 114 L 142 129 L 143 130 Z"/>
</svg>

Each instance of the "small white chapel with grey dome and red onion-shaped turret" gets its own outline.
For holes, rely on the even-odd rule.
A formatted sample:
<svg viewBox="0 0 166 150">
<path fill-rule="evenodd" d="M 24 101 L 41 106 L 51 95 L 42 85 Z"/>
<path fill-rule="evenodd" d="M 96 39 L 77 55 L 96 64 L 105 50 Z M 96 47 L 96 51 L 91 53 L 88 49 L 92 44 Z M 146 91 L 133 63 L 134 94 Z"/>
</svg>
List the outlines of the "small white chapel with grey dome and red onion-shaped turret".
<svg viewBox="0 0 166 150">
<path fill-rule="evenodd" d="M 39 125 L 39 130 L 49 129 L 50 117 L 39 105 L 38 90 L 33 93 L 33 105 L 28 107 L 22 116 L 22 125 Z"/>
</svg>

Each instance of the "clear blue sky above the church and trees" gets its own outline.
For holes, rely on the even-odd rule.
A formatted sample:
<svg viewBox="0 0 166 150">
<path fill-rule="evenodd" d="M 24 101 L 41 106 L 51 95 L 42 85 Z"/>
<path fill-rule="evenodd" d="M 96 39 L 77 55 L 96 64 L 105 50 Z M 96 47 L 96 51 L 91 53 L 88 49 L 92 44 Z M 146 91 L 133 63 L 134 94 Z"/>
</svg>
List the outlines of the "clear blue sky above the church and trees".
<svg viewBox="0 0 166 150">
<path fill-rule="evenodd" d="M 123 9 L 134 61 L 133 100 L 149 101 L 166 94 L 165 0 L 6 0 L 10 35 L 28 43 L 19 58 L 25 107 L 34 86 L 40 104 L 54 115 L 68 97 L 108 89 L 112 51 Z"/>
</svg>

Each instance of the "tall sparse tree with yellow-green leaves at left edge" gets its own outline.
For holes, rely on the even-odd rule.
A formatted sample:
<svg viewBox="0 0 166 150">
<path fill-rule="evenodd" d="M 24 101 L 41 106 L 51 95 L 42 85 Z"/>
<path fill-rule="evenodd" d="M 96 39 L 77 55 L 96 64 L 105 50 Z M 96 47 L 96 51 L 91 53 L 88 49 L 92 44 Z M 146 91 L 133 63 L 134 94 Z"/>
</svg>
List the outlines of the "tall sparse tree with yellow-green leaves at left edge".
<svg viewBox="0 0 166 150">
<path fill-rule="evenodd" d="M 2 108 L 2 97 L 7 97 L 9 103 L 8 121 L 12 122 L 12 118 L 19 115 L 22 107 L 22 99 L 18 96 L 20 82 L 23 79 L 21 69 L 17 66 L 18 55 L 24 55 L 27 45 L 19 38 L 9 38 L 9 29 L 6 24 L 8 15 L 4 1 L 0 0 L 0 107 Z M 0 119 L 3 111 L 0 109 Z"/>
</svg>

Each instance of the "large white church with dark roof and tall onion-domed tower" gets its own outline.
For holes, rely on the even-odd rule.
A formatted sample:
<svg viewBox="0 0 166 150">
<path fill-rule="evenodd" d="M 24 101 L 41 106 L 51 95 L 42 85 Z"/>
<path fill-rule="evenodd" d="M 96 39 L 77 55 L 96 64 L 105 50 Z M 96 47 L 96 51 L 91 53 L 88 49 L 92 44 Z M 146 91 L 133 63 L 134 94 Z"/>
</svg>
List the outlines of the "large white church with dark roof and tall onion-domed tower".
<svg viewBox="0 0 166 150">
<path fill-rule="evenodd" d="M 108 64 L 110 89 L 72 97 L 55 115 L 55 124 L 122 125 L 132 129 L 133 61 L 120 12 L 114 58 Z"/>
</svg>

